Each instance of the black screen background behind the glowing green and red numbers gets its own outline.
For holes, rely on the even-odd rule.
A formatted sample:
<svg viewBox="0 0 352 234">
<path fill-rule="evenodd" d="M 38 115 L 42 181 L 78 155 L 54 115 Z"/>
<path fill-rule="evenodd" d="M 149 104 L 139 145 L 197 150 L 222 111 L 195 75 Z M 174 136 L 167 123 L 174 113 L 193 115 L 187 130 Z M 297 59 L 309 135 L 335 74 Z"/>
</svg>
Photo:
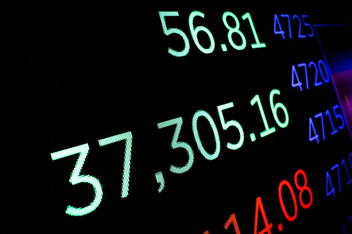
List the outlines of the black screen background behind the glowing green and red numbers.
<svg viewBox="0 0 352 234">
<path fill-rule="evenodd" d="M 251 233 L 258 196 L 273 224 L 272 233 L 278 233 L 278 223 L 285 233 L 342 233 L 343 223 L 351 230 L 351 224 L 347 225 L 352 213 L 351 186 L 346 185 L 342 166 L 342 192 L 338 192 L 334 172 L 337 197 L 326 197 L 325 192 L 326 171 L 342 158 L 348 160 L 351 152 L 347 128 L 331 136 L 325 118 L 326 140 L 320 137 L 319 145 L 308 140 L 309 117 L 327 108 L 332 113 L 332 106 L 338 104 L 332 82 L 314 87 L 314 79 L 310 79 L 310 89 L 303 85 L 303 92 L 291 87 L 293 64 L 323 59 L 318 40 L 316 35 L 297 38 L 298 22 L 292 20 L 293 39 L 288 39 L 288 32 L 286 40 L 272 32 L 274 14 L 307 14 L 307 21 L 313 25 L 351 22 L 348 11 L 304 3 L 256 8 L 222 2 L 214 3 L 214 7 L 201 2 L 191 5 L 54 4 L 51 11 L 41 11 L 43 6 L 35 8 L 48 18 L 36 15 L 30 7 L 16 10 L 21 18 L 11 21 L 14 27 L 6 29 L 14 39 L 8 48 L 9 60 L 15 64 L 10 66 L 13 79 L 4 85 L 4 89 L 10 87 L 5 90 L 8 101 L 4 103 L 5 113 L 10 113 L 5 125 L 9 136 L 5 148 L 10 153 L 4 154 L 5 172 L 10 178 L 6 181 L 6 232 L 22 228 L 38 233 L 234 233 L 232 227 L 225 231 L 223 225 L 235 213 L 240 231 Z M 190 40 L 187 56 L 168 54 L 168 47 L 181 50 L 183 43 L 180 36 L 163 34 L 159 8 L 179 12 L 178 17 L 166 17 L 166 25 L 186 33 Z M 203 54 L 191 40 L 188 15 L 194 10 L 205 14 L 204 19 L 196 17 L 194 25 L 212 32 L 212 54 Z M 225 11 L 240 20 L 240 30 L 247 39 L 243 51 L 228 43 L 228 30 L 221 19 Z M 266 48 L 251 48 L 251 28 L 240 18 L 246 12 L 251 13 Z M 7 16 L 11 18 L 10 13 Z M 285 20 L 281 24 L 287 31 Z M 302 34 L 308 32 L 302 28 Z M 209 39 L 201 33 L 199 41 L 207 47 Z M 233 39 L 240 43 L 239 36 Z M 221 51 L 222 43 L 227 45 L 227 52 Z M 308 76 L 314 77 L 314 72 L 308 69 Z M 281 91 L 274 102 L 287 107 L 287 128 L 277 126 L 272 116 L 269 94 L 273 88 Z M 276 128 L 264 138 L 259 136 L 264 125 L 257 104 L 250 105 L 256 94 L 269 126 Z M 243 146 L 235 151 L 226 143 L 235 143 L 238 132 L 234 127 L 222 129 L 216 108 L 228 102 L 234 102 L 234 108 L 224 111 L 225 121 L 237 120 L 245 133 Z M 212 116 L 220 135 L 221 151 L 215 160 L 206 160 L 193 138 L 191 120 L 200 109 Z M 158 129 L 157 123 L 180 116 L 183 125 L 178 139 L 193 148 L 194 163 L 179 175 L 171 173 L 169 166 L 184 165 L 187 153 L 170 147 L 175 128 Z M 278 116 L 284 120 L 283 112 Z M 314 119 L 314 123 L 321 132 L 320 120 Z M 334 124 L 339 122 L 334 120 Z M 199 118 L 198 129 L 203 146 L 213 152 L 215 140 L 205 118 Z M 99 147 L 98 140 L 127 131 L 133 134 L 130 194 L 122 199 L 125 143 Z M 254 142 L 249 138 L 252 132 L 257 137 Z M 81 174 L 100 180 L 103 199 L 94 212 L 72 217 L 65 214 L 65 208 L 89 205 L 94 191 L 89 184 L 73 186 L 68 182 L 78 155 L 52 161 L 50 153 L 84 143 L 89 144 L 90 151 Z M 294 186 L 297 169 L 306 172 L 313 192 L 313 204 L 306 210 L 300 206 Z M 165 179 L 162 193 L 157 192 L 154 177 L 159 171 Z M 294 222 L 284 217 L 278 200 L 278 184 L 284 179 L 291 183 L 297 198 Z M 287 188 L 283 198 L 288 213 L 293 214 Z M 308 203 L 308 194 L 303 193 L 303 201 Z M 259 215 L 258 230 L 263 228 Z"/>
</svg>

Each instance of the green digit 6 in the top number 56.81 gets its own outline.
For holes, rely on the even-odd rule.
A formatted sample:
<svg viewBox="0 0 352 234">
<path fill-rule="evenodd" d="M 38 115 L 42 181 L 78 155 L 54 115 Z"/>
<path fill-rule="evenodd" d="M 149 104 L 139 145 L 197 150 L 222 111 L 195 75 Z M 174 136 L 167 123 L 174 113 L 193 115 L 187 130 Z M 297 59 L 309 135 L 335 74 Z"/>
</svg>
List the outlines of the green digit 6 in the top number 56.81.
<svg viewBox="0 0 352 234">
<path fill-rule="evenodd" d="M 212 33 L 209 31 L 208 28 L 204 27 L 204 26 L 198 26 L 194 29 L 194 26 L 193 26 L 193 19 L 195 16 L 201 16 L 202 18 L 204 18 L 204 14 L 202 12 L 199 12 L 199 11 L 194 11 L 192 13 L 189 14 L 189 18 L 188 18 L 188 23 L 189 23 L 189 29 L 191 31 L 191 35 L 192 35 L 192 38 L 194 40 L 194 43 L 196 44 L 196 46 L 198 47 L 198 49 L 205 53 L 205 54 L 210 54 L 214 51 L 214 48 L 215 48 L 215 41 L 214 41 L 214 37 L 212 35 Z M 204 31 L 208 34 L 209 36 L 209 39 L 210 39 L 210 46 L 208 49 L 206 48 L 203 48 L 201 46 L 201 44 L 199 43 L 198 41 L 198 38 L 197 38 L 197 34 L 199 31 Z"/>
</svg>

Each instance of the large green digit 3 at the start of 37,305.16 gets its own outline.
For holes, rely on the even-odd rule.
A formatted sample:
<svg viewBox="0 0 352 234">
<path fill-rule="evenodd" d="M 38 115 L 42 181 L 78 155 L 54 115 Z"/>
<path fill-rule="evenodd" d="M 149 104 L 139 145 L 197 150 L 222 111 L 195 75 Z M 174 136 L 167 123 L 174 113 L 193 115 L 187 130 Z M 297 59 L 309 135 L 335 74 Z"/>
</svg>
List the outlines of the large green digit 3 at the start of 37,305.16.
<svg viewBox="0 0 352 234">
<path fill-rule="evenodd" d="M 78 159 L 76 161 L 76 166 L 73 169 L 73 172 L 71 173 L 71 177 L 69 181 L 72 185 L 76 185 L 77 183 L 90 183 L 94 188 L 95 196 L 94 196 L 93 202 L 90 203 L 89 206 L 86 206 L 83 208 L 68 206 L 66 209 L 66 214 L 69 214 L 69 215 L 82 216 L 82 215 L 89 214 L 100 205 L 100 202 L 102 200 L 103 191 L 99 180 L 91 175 L 80 175 L 84 161 L 87 158 L 88 151 L 89 151 L 88 144 L 84 144 L 73 148 L 64 149 L 62 151 L 58 151 L 51 154 L 52 160 L 65 158 L 67 156 L 71 156 L 74 154 L 80 154 L 80 156 L 78 156 Z"/>
</svg>

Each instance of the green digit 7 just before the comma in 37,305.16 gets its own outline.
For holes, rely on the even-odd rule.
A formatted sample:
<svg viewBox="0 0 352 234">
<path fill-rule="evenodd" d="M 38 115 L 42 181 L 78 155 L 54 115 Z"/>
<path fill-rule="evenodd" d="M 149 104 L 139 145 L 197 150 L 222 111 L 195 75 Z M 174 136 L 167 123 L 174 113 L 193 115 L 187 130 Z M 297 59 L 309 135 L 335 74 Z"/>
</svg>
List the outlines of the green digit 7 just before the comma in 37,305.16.
<svg viewBox="0 0 352 234">
<path fill-rule="evenodd" d="M 125 143 L 125 158 L 124 171 L 122 173 L 121 198 L 128 196 L 128 188 L 130 187 L 130 169 L 131 169 L 131 153 L 132 153 L 132 133 L 125 132 L 108 138 L 98 140 L 99 146 L 109 145 L 118 141 L 126 140 Z"/>
</svg>

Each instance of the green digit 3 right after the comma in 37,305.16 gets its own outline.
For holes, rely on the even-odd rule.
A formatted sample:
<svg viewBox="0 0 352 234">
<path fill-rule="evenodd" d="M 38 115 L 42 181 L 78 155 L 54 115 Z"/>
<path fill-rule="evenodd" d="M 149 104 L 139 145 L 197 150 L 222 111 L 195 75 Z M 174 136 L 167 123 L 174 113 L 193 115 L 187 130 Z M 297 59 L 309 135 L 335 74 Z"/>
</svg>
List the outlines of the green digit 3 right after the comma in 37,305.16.
<svg viewBox="0 0 352 234">
<path fill-rule="evenodd" d="M 175 133 L 171 140 L 171 147 L 172 149 L 184 148 L 188 153 L 188 162 L 186 163 L 186 165 L 184 165 L 183 167 L 176 167 L 174 165 L 170 166 L 170 171 L 177 174 L 187 172 L 189 168 L 191 168 L 191 166 L 193 165 L 193 161 L 194 161 L 192 147 L 186 142 L 177 141 L 178 136 L 180 135 L 180 132 L 181 132 L 182 123 L 183 123 L 182 117 L 178 117 L 176 119 L 168 120 L 157 124 L 159 129 L 176 125 Z"/>
</svg>

